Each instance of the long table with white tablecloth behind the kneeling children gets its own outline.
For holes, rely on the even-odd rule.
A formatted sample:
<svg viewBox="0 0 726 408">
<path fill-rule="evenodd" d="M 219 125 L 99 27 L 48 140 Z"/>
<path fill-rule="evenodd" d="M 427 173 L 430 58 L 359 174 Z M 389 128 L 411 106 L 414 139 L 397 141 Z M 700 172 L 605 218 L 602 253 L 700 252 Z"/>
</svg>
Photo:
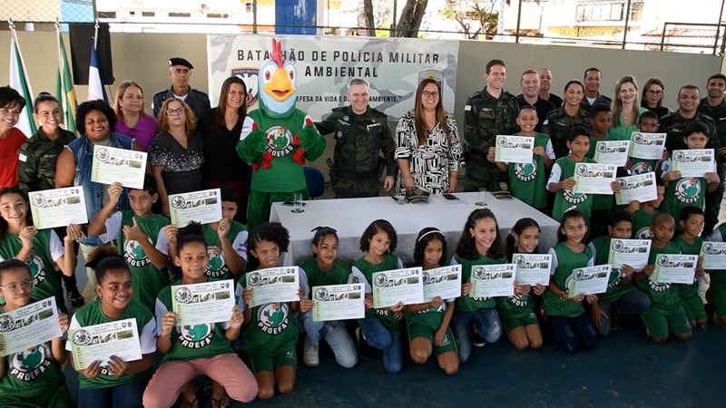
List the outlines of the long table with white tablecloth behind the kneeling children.
<svg viewBox="0 0 726 408">
<path fill-rule="evenodd" d="M 448 250 L 446 261 L 454 255 L 456 243 L 461 237 L 466 218 L 475 209 L 478 193 L 456 193 L 460 200 L 447 200 L 433 195 L 427 204 L 397 204 L 391 197 L 371 199 L 315 199 L 305 201 L 305 211 L 293 213 L 292 207 L 280 202 L 272 204 L 270 221 L 280 222 L 289 230 L 290 244 L 283 255 L 283 265 L 298 265 L 305 257 L 312 256 L 310 242 L 314 235 L 310 230 L 316 227 L 331 227 L 338 230 L 338 257 L 353 262 L 363 256 L 359 249 L 360 236 L 376 219 L 388 219 L 396 228 L 398 246 L 395 253 L 404 262 L 413 260 L 413 250 L 418 231 L 426 227 L 440 229 L 446 237 Z M 486 208 L 494 212 L 499 223 L 502 245 L 512 226 L 518 219 L 535 219 L 542 229 L 539 248 L 544 253 L 557 242 L 559 223 L 518 199 L 495 199 L 489 195 Z"/>
</svg>

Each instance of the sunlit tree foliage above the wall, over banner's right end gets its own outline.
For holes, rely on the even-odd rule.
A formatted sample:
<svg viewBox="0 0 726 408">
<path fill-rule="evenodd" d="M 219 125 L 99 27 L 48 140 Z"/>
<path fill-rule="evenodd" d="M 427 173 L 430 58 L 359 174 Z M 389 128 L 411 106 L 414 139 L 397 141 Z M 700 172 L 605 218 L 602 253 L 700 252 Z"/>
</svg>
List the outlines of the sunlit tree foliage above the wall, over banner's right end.
<svg viewBox="0 0 726 408">
<path fill-rule="evenodd" d="M 497 0 L 448 0 L 439 14 L 456 21 L 466 39 L 476 40 L 481 34 L 491 38 L 499 24 L 496 4 Z"/>
</svg>

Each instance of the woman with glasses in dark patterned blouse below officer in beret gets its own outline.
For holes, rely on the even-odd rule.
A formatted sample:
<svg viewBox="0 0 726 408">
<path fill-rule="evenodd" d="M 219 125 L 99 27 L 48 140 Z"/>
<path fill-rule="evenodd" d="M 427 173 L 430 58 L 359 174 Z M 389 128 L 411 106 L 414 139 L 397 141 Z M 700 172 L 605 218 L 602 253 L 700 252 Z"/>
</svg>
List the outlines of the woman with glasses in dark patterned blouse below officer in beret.
<svg viewBox="0 0 726 408">
<path fill-rule="evenodd" d="M 201 189 L 201 138 L 189 105 L 172 98 L 159 112 L 159 134 L 149 146 L 149 163 L 159 188 L 162 214 L 169 216 L 169 195 Z"/>
</svg>

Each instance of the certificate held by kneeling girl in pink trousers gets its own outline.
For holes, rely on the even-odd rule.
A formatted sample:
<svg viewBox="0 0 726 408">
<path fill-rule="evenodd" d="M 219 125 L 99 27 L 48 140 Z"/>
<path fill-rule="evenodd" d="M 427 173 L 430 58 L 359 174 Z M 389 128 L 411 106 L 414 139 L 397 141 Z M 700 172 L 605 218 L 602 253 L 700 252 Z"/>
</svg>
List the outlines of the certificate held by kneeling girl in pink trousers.
<svg viewBox="0 0 726 408">
<path fill-rule="evenodd" d="M 232 279 L 172 287 L 176 325 L 229 322 L 234 305 Z"/>
</svg>

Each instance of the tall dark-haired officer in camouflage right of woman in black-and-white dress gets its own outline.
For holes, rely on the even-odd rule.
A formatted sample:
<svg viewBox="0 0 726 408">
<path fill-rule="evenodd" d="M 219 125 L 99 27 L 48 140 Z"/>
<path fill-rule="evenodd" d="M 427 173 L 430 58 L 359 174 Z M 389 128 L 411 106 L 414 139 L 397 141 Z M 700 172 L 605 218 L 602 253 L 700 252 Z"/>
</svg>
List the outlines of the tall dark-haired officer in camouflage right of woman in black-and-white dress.
<svg viewBox="0 0 726 408">
<path fill-rule="evenodd" d="M 466 100 L 464 108 L 464 141 L 467 144 L 464 190 L 506 189 L 506 172 L 486 160 L 489 148 L 494 148 L 497 134 L 519 131 L 516 117 L 519 104 L 515 95 L 504 90 L 506 66 L 504 61 L 486 63 L 486 87 Z"/>
</svg>

